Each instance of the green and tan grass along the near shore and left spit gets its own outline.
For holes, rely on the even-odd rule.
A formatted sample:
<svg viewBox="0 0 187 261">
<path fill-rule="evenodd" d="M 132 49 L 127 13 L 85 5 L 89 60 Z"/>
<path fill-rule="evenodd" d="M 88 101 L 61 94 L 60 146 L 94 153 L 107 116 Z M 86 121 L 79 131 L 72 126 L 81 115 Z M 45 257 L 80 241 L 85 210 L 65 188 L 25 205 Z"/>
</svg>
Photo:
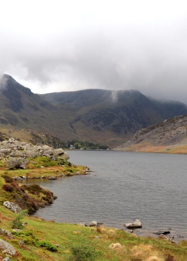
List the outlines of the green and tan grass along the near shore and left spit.
<svg viewBox="0 0 187 261">
<path fill-rule="evenodd" d="M 17 250 L 17 255 L 11 257 L 11 260 L 186 261 L 186 241 L 180 241 L 178 245 L 175 245 L 163 239 L 140 238 L 124 230 L 83 227 L 24 216 L 23 222 L 27 222 L 28 225 L 24 226 L 21 232 L 14 232 L 12 222 L 19 214 L 13 213 L 3 206 L 4 201 L 14 200 L 14 197 L 12 192 L 2 189 L 6 183 L 2 176 L 5 174 L 9 176 L 29 175 L 30 178 L 33 178 L 41 175 L 56 176 L 59 172 L 65 173 L 65 171 L 73 174 L 74 171 L 83 169 L 79 166 L 60 168 L 50 166 L 41 169 L 31 166 L 31 169 L 26 170 L 6 170 L 3 167 L 0 170 L 0 227 L 12 231 L 15 237 L 9 239 L 0 235 L 0 238 L 12 244 Z M 24 242 L 22 246 L 19 244 L 20 240 Z M 55 244 L 59 247 L 56 247 Z M 0 260 L 5 257 L 6 255 L 0 251 Z"/>
</svg>

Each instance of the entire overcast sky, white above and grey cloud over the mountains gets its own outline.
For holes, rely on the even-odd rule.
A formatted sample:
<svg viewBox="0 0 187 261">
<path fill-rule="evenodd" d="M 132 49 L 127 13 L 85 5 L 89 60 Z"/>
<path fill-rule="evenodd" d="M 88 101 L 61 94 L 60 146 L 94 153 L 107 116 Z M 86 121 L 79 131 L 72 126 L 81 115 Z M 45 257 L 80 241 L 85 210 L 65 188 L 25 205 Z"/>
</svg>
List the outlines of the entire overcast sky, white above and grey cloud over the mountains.
<svg viewBox="0 0 187 261">
<path fill-rule="evenodd" d="M 34 93 L 137 89 L 187 103 L 187 2 L 6 0 L 0 73 Z"/>
</svg>

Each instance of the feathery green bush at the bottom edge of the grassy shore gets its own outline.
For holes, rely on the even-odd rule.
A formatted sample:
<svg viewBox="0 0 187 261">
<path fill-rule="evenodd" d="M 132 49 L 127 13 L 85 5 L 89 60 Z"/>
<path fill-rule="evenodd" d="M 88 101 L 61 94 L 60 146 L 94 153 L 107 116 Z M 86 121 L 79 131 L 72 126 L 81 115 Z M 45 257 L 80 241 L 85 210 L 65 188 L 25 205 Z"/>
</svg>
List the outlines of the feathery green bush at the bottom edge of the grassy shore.
<svg viewBox="0 0 187 261">
<path fill-rule="evenodd" d="M 96 250 L 95 245 L 84 237 L 79 237 L 76 244 L 71 244 L 70 250 L 72 261 L 94 261 L 101 254 Z"/>
</svg>

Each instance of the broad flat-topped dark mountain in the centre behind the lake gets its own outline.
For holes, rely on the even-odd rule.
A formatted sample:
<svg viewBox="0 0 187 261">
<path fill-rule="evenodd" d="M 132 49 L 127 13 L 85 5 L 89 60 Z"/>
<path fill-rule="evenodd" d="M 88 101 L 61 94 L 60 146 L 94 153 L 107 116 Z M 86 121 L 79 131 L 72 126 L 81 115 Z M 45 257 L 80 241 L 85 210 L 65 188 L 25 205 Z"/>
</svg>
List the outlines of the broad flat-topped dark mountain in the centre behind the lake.
<svg viewBox="0 0 187 261">
<path fill-rule="evenodd" d="M 108 139 L 111 146 L 127 141 L 138 129 L 164 119 L 156 106 L 136 90 L 89 89 L 39 96 L 66 112 L 71 111 L 74 119 L 70 125 L 76 133 L 80 134 L 83 123 L 84 132 L 86 128 L 91 139 L 97 132 L 97 138 Z"/>
</svg>

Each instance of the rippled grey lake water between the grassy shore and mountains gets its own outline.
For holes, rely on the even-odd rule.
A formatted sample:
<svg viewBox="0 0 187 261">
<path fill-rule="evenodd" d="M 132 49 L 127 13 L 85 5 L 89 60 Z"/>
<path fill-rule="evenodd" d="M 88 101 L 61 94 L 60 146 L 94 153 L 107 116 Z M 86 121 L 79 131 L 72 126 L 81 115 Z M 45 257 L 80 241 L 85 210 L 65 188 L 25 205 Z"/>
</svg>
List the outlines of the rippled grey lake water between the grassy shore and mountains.
<svg viewBox="0 0 187 261">
<path fill-rule="evenodd" d="M 37 211 L 46 220 L 108 227 L 140 219 L 140 236 L 168 230 L 187 240 L 187 155 L 118 151 L 70 151 L 70 162 L 89 167 L 90 175 L 58 180 L 26 180 L 49 188 L 58 197 Z"/>
</svg>

